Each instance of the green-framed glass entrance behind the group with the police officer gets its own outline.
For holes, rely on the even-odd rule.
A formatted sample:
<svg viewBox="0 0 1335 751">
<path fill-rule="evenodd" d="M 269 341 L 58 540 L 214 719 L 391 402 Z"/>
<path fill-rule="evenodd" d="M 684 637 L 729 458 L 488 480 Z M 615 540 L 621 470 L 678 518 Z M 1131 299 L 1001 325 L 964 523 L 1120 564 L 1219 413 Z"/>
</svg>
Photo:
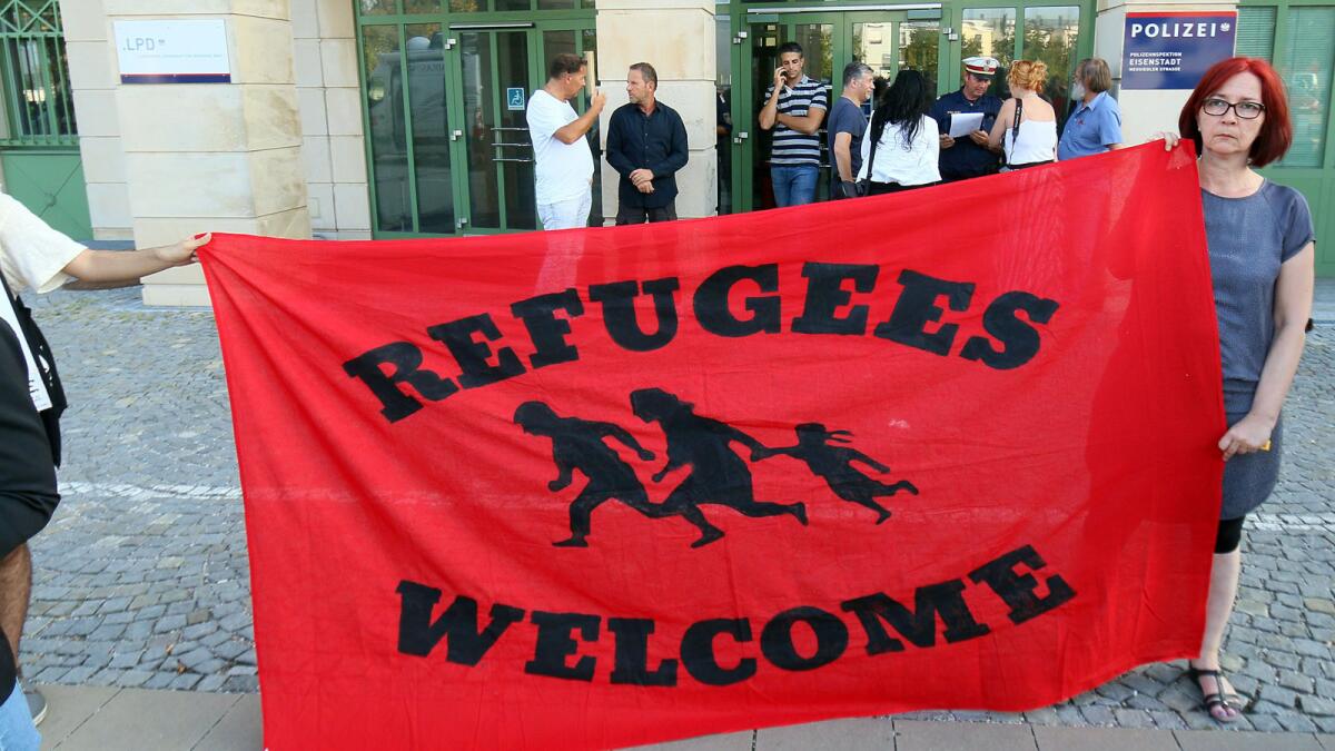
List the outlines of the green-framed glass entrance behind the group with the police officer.
<svg viewBox="0 0 1335 751">
<path fill-rule="evenodd" d="M 1089 0 L 941 0 L 880 4 L 844 0 L 837 11 L 812 0 L 772 0 L 757 8 L 732 0 L 732 130 L 728 154 L 733 211 L 774 206 L 769 179 L 769 134 L 757 126 L 765 88 L 774 78 L 778 45 L 797 41 L 806 75 L 821 80 L 832 98 L 842 90 L 844 65 L 861 60 L 878 76 L 893 79 L 902 68 L 921 71 L 937 95 L 960 87 L 961 60 L 989 55 L 1003 71 L 1013 60 L 1048 65 L 1044 95 L 1057 110 L 1059 127 L 1072 106 L 1071 73 L 1093 51 L 1093 4 Z M 993 94 L 1008 96 L 999 75 Z M 870 107 L 865 107 L 870 112 Z M 818 198 L 829 190 L 829 155 L 821 131 Z M 724 155 L 720 155 L 724 158 Z"/>
</svg>

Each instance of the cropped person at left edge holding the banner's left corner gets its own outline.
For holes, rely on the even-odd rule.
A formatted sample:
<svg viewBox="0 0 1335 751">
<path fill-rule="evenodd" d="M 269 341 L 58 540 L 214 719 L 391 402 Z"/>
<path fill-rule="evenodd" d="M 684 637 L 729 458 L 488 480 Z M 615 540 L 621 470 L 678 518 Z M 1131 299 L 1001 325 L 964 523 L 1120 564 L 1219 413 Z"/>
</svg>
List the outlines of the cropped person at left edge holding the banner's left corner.
<svg viewBox="0 0 1335 751">
<path fill-rule="evenodd" d="M 89 250 L 83 245 L 52 230 L 45 222 L 29 211 L 24 204 L 0 192 L 0 274 L 4 275 L 8 291 L 0 291 L 0 339 L 11 346 L 0 347 L 0 357 L 9 358 L 0 370 L 11 374 L 25 374 L 28 377 L 28 394 L 23 401 L 13 400 L 12 393 L 5 394 L 4 404 L 11 409 L 31 409 L 27 414 L 9 416 L 0 414 L 0 458 L 7 452 L 12 452 L 20 436 L 16 433 L 23 425 L 40 422 L 41 437 L 48 441 L 49 452 L 37 452 L 40 456 L 27 456 L 27 466 L 33 476 L 45 476 L 55 472 L 55 465 L 60 464 L 59 438 L 59 409 L 63 406 L 59 389 L 48 389 L 44 382 L 49 367 L 43 367 L 43 377 L 33 378 L 32 369 L 43 361 L 36 357 L 36 350 L 44 342 L 33 341 L 25 335 L 27 318 L 25 309 L 17 305 L 16 297 L 28 290 L 48 293 L 59 289 L 69 278 L 85 282 L 135 282 L 140 277 L 155 274 L 172 266 L 194 263 L 195 250 L 207 243 L 211 235 L 186 238 L 182 242 L 147 249 L 147 250 Z M 9 335 L 13 339 L 9 339 Z M 12 346 L 17 345 L 17 346 Z M 29 365 L 32 363 L 32 365 Z M 5 389 L 19 389 L 15 378 L 7 378 L 3 384 Z M 27 404 L 24 404 L 27 402 Z M 57 404 L 59 402 L 59 404 Z M 23 417 L 27 422 L 20 424 L 16 417 Z M 29 430 L 31 432 L 31 430 Z M 40 465 L 40 466 L 39 466 Z M 36 535 L 55 512 L 59 496 L 51 493 L 40 496 L 40 502 L 24 502 L 32 496 L 31 477 L 15 474 L 5 470 L 0 461 L 0 551 L 5 555 L 0 557 L 0 631 L 5 639 L 0 640 L 0 648 L 11 649 L 9 656 L 17 663 L 19 639 L 23 635 L 23 621 L 28 613 L 28 597 L 32 592 L 32 556 L 28 552 L 27 540 Z M 5 641 L 8 644 L 5 644 Z M 0 660 L 8 663 L 9 660 Z M 41 722 L 45 715 L 45 699 L 35 691 L 25 691 L 28 704 L 35 722 Z"/>
</svg>

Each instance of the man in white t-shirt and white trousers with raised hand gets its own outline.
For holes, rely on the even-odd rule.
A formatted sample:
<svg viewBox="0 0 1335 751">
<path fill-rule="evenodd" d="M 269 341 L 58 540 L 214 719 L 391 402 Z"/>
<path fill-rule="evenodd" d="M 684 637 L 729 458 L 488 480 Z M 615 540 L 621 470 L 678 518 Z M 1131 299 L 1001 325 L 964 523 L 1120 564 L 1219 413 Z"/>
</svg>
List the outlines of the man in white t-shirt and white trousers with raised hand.
<svg viewBox="0 0 1335 751">
<path fill-rule="evenodd" d="M 547 68 L 547 86 L 529 99 L 538 219 L 543 230 L 589 224 L 593 206 L 593 151 L 585 135 L 598 122 L 607 98 L 601 91 L 589 110 L 577 115 L 570 100 L 585 87 L 587 67 L 578 55 L 557 55 Z"/>
</svg>

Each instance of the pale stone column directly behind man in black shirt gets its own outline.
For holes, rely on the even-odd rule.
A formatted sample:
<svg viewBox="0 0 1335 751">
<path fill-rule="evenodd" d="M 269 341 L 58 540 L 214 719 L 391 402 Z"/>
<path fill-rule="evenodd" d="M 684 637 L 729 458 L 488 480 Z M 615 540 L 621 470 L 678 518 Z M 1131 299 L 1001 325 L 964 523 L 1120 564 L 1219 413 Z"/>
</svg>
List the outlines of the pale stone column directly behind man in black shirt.
<svg viewBox="0 0 1335 751">
<path fill-rule="evenodd" d="M 658 71 L 658 99 L 686 123 L 690 160 L 677 172 L 677 215 L 718 212 L 718 156 L 713 0 L 598 0 L 598 78 L 607 92 L 599 130 L 626 103 L 626 71 L 649 63 Z M 619 175 L 602 163 L 602 212 L 617 216 Z"/>
</svg>

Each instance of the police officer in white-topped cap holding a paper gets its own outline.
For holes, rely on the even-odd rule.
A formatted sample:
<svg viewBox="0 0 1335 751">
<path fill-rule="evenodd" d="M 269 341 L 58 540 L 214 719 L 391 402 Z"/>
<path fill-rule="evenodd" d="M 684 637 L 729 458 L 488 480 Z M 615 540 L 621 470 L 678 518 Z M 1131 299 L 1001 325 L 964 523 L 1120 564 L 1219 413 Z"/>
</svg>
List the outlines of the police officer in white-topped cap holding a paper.
<svg viewBox="0 0 1335 751">
<path fill-rule="evenodd" d="M 996 57 L 965 57 L 964 86 L 932 106 L 932 119 L 941 131 L 941 180 L 967 180 L 991 175 L 1000 167 L 1000 150 L 988 148 L 988 134 L 1001 111 L 1001 100 L 988 94 L 997 73 Z M 951 116 L 983 112 L 983 123 L 968 136 L 951 138 Z"/>
</svg>

